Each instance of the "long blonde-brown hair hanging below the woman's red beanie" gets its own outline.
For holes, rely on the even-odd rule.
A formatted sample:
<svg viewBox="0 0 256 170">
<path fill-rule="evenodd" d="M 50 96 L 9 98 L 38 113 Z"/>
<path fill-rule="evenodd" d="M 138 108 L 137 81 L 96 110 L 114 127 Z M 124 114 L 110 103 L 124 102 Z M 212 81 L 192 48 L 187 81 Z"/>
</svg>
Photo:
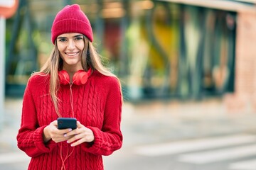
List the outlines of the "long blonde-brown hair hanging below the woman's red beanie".
<svg viewBox="0 0 256 170">
<path fill-rule="evenodd" d="M 103 66 L 101 62 L 101 56 L 97 53 L 95 47 L 92 45 L 85 36 L 83 38 L 85 47 L 82 50 L 82 68 L 87 71 L 89 68 L 93 70 L 97 70 L 101 74 L 110 77 L 116 77 L 114 74 L 110 72 L 109 69 Z M 57 42 L 55 40 L 55 46 L 50 54 L 50 57 L 43 64 L 39 72 L 35 72 L 33 74 L 38 75 L 50 75 L 50 97 L 53 101 L 53 105 L 55 111 L 59 117 L 61 117 L 60 112 L 58 111 L 58 88 L 59 88 L 59 79 L 58 79 L 58 71 L 63 69 L 63 60 L 60 57 L 60 52 L 57 47 Z M 42 74 L 43 73 L 43 74 Z"/>
</svg>

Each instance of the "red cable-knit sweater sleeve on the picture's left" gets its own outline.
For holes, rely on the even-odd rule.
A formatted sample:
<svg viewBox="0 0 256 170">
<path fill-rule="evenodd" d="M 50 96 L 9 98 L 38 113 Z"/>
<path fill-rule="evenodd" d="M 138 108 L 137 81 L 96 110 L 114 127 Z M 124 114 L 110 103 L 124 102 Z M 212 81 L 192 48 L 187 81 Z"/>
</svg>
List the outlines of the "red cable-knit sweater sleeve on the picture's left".
<svg viewBox="0 0 256 170">
<path fill-rule="evenodd" d="M 36 86 L 33 81 L 28 80 L 28 84 L 23 95 L 23 107 L 21 116 L 21 128 L 18 130 L 18 148 L 26 152 L 29 157 L 37 157 L 40 154 L 51 152 L 55 143 L 50 140 L 43 143 L 43 129 L 46 125 L 39 127 L 36 114 L 35 99 L 31 93 L 31 88 Z M 35 91 L 35 89 L 33 89 Z"/>
</svg>

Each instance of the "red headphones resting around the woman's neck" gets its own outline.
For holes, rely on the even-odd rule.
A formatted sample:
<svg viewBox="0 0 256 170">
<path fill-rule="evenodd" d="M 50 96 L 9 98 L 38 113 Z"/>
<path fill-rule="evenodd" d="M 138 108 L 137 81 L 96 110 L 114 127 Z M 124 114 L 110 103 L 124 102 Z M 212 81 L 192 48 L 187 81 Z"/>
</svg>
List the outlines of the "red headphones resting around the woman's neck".
<svg viewBox="0 0 256 170">
<path fill-rule="evenodd" d="M 78 72 L 75 72 L 73 76 L 73 84 L 76 84 L 76 85 L 85 84 L 88 77 L 90 77 L 90 74 L 91 74 L 91 69 L 89 69 L 87 72 L 85 72 L 85 70 L 83 69 L 78 70 Z M 60 72 L 58 72 L 58 78 L 59 78 L 60 84 L 63 84 L 63 85 L 70 84 L 70 78 L 67 71 L 61 70 Z"/>
</svg>

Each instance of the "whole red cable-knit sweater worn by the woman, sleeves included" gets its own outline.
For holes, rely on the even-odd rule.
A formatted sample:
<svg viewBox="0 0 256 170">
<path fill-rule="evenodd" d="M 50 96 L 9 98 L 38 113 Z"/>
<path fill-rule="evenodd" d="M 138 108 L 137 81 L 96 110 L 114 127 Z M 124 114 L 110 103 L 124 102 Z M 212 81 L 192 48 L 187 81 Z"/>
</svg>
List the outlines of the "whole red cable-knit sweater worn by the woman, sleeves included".
<svg viewBox="0 0 256 170">
<path fill-rule="evenodd" d="M 122 146 L 122 94 L 117 78 L 106 77 L 96 71 L 85 85 L 73 84 L 71 91 L 75 118 L 92 130 L 95 141 L 77 147 L 53 140 L 43 143 L 43 128 L 58 115 L 49 95 L 49 77 L 33 75 L 23 96 L 21 128 L 17 135 L 18 147 L 31 157 L 28 169 L 61 169 L 60 148 L 63 159 L 75 148 L 65 161 L 65 169 L 100 170 L 103 169 L 102 155 L 110 155 Z M 72 117 L 70 86 L 61 85 L 58 97 L 61 115 Z"/>
</svg>

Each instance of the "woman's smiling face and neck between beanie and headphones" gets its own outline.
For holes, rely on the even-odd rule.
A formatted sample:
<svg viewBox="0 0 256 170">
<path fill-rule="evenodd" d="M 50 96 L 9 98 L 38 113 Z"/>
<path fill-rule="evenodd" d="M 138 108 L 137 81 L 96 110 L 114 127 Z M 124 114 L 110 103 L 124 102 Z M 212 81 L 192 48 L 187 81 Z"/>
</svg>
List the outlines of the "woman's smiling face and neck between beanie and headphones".
<svg viewBox="0 0 256 170">
<path fill-rule="evenodd" d="M 57 47 L 63 59 L 63 69 L 82 69 L 82 50 L 85 47 L 80 33 L 64 33 L 57 37 Z"/>
</svg>

